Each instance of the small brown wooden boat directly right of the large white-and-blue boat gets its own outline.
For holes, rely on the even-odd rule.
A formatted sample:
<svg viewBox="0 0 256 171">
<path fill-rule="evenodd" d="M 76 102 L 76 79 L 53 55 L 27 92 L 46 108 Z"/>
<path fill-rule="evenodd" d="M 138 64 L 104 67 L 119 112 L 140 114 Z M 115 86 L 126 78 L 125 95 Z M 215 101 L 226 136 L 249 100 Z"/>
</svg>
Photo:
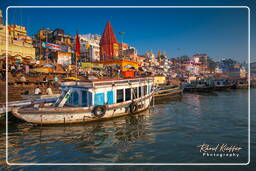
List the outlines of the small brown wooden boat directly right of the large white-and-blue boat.
<svg viewBox="0 0 256 171">
<path fill-rule="evenodd" d="M 173 86 L 161 86 L 154 92 L 154 97 L 160 98 L 165 96 L 177 96 L 182 95 L 183 89 L 180 87 Z"/>
</svg>

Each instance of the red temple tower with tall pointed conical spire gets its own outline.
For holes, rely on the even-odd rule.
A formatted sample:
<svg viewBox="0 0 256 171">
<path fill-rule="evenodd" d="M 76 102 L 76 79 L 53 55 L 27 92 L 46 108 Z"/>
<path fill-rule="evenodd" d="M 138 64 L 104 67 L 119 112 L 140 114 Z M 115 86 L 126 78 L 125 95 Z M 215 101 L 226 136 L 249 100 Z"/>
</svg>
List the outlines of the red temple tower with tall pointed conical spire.
<svg viewBox="0 0 256 171">
<path fill-rule="evenodd" d="M 100 40 L 100 60 L 113 61 L 114 57 L 119 56 L 119 44 L 108 21 L 104 33 Z"/>
</svg>

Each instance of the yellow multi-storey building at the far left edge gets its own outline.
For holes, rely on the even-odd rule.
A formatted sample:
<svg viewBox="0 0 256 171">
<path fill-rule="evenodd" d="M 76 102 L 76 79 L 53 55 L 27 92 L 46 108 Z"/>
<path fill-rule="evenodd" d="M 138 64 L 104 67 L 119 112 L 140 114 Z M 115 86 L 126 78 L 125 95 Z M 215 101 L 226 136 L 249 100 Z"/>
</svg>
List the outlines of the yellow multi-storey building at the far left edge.
<svg viewBox="0 0 256 171">
<path fill-rule="evenodd" d="M 8 33 L 8 56 L 35 59 L 35 48 L 26 27 L 9 25 Z M 4 58 L 6 53 L 6 26 L 0 23 L 0 58 Z"/>
</svg>

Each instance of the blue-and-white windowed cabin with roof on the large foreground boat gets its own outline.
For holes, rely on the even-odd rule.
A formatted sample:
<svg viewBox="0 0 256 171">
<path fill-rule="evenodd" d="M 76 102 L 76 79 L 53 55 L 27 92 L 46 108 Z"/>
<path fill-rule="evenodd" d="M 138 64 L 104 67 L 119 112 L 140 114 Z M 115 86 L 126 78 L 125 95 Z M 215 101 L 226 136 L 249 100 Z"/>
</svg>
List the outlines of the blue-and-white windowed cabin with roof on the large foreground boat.
<svg viewBox="0 0 256 171">
<path fill-rule="evenodd" d="M 152 78 L 105 81 L 63 82 L 62 98 L 65 106 L 90 107 L 116 104 L 149 95 L 153 91 Z"/>
</svg>

